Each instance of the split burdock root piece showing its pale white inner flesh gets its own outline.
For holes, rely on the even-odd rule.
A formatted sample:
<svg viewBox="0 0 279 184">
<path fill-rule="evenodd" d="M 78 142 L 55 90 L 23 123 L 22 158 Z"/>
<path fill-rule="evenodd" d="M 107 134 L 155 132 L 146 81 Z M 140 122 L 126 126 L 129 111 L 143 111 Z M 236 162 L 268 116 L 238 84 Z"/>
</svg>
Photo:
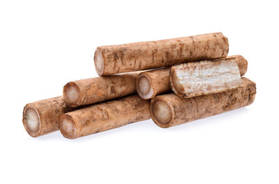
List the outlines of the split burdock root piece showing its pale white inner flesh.
<svg viewBox="0 0 279 184">
<path fill-rule="evenodd" d="M 181 98 L 225 92 L 241 86 L 241 76 L 235 58 L 205 60 L 175 65 L 169 81 Z"/>
</svg>

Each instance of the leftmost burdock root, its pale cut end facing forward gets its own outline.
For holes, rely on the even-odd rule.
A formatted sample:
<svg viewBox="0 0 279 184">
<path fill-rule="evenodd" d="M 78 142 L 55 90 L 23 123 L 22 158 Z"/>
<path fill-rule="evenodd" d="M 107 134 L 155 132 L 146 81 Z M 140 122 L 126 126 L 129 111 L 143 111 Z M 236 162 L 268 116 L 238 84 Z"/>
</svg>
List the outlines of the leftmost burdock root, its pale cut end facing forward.
<svg viewBox="0 0 279 184">
<path fill-rule="evenodd" d="M 22 122 L 29 135 L 38 137 L 58 131 L 61 115 L 72 110 L 66 106 L 62 96 L 44 99 L 24 107 Z"/>
</svg>

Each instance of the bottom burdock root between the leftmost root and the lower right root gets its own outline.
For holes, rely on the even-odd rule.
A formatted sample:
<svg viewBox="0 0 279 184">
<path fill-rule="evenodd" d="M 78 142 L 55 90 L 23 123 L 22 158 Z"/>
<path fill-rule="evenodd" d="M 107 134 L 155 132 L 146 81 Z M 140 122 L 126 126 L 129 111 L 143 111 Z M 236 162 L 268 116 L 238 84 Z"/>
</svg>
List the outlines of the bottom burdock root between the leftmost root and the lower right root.
<svg viewBox="0 0 279 184">
<path fill-rule="evenodd" d="M 62 115 L 60 131 L 64 137 L 75 139 L 140 122 L 151 118 L 149 106 L 149 100 L 140 99 L 137 95 L 98 103 Z"/>
</svg>

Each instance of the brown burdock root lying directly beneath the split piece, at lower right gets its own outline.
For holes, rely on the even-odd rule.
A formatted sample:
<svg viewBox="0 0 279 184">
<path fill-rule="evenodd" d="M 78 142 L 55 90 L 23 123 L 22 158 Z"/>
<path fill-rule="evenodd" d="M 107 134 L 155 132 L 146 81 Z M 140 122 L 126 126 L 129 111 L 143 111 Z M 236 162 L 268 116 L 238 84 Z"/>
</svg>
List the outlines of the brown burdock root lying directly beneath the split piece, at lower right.
<svg viewBox="0 0 279 184">
<path fill-rule="evenodd" d="M 227 92 L 189 99 L 181 99 L 173 93 L 156 96 L 151 100 L 151 117 L 158 126 L 167 128 L 248 106 L 255 99 L 256 84 L 242 78 L 242 85 Z"/>
</svg>

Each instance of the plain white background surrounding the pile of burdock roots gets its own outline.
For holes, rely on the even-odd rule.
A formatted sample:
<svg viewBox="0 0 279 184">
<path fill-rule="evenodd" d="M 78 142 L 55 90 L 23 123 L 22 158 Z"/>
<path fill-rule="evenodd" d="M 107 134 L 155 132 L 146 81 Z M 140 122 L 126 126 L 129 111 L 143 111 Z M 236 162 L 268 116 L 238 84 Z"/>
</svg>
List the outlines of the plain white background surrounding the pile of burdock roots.
<svg viewBox="0 0 279 184">
<path fill-rule="evenodd" d="M 0 183 L 279 183 L 276 1 L 0 1 Z M 96 47 L 222 31 L 257 83 L 246 108 L 173 128 L 151 120 L 32 138 L 26 103 L 97 76 Z"/>
</svg>

